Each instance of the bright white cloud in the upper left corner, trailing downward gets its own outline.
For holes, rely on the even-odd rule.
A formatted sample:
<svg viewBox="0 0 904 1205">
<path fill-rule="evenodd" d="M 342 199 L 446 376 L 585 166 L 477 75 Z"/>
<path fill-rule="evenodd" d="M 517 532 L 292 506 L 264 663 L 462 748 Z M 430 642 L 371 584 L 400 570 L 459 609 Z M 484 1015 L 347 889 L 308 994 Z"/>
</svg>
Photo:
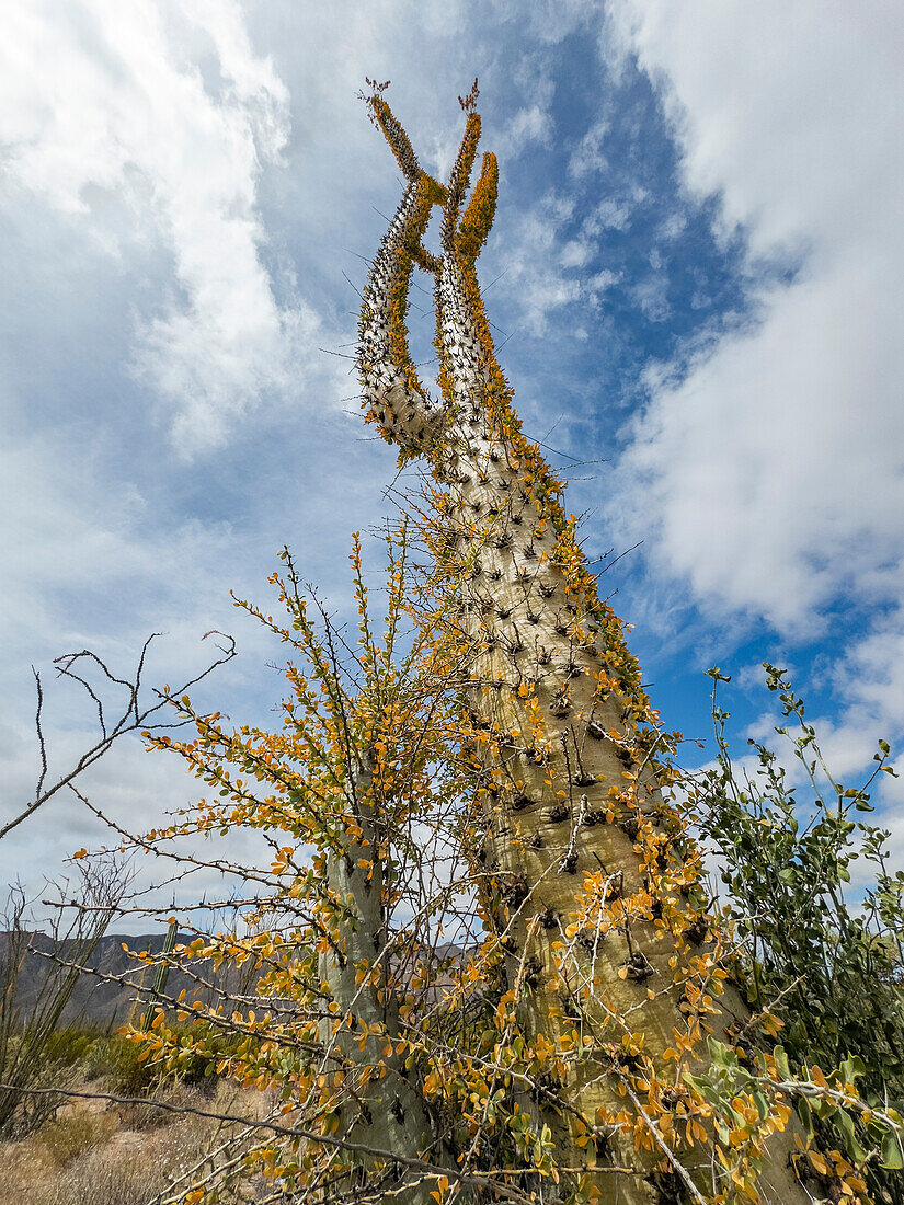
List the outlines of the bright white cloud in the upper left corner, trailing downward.
<svg viewBox="0 0 904 1205">
<path fill-rule="evenodd" d="M 222 443 L 288 388 L 299 327 L 316 325 L 277 302 L 262 257 L 257 186 L 288 137 L 284 86 L 233 0 L 42 0 L 10 14 L 4 47 L 7 177 L 100 243 L 108 194 L 153 234 L 172 287 L 136 312 L 134 366 L 184 454 Z"/>
</svg>

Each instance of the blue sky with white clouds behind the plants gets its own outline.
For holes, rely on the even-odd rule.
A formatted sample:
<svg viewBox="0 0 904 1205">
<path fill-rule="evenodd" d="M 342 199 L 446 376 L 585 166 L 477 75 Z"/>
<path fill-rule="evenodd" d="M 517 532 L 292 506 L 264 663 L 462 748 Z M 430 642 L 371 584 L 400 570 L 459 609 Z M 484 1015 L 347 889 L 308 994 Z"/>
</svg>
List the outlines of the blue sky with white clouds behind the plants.
<svg viewBox="0 0 904 1205">
<path fill-rule="evenodd" d="M 127 674 L 160 633 L 148 681 L 175 683 L 229 631 L 198 703 L 266 723 L 281 653 L 230 590 L 269 607 L 289 545 L 350 609 L 350 534 L 395 476 L 347 359 L 401 187 L 365 77 L 434 174 L 480 80 L 499 358 L 588 556 L 627 553 L 600 588 L 685 764 L 711 665 L 741 752 L 769 736 L 763 660 L 845 781 L 900 748 L 897 0 L 34 0 L 0 59 L 5 817 L 37 774 L 33 666 L 53 772 L 93 740 L 54 657 Z M 194 793 L 137 741 L 86 789 L 133 827 Z M 0 842 L 4 882 L 40 897 L 107 840 L 64 794 Z M 900 782 L 876 801 L 904 864 Z"/>
</svg>

